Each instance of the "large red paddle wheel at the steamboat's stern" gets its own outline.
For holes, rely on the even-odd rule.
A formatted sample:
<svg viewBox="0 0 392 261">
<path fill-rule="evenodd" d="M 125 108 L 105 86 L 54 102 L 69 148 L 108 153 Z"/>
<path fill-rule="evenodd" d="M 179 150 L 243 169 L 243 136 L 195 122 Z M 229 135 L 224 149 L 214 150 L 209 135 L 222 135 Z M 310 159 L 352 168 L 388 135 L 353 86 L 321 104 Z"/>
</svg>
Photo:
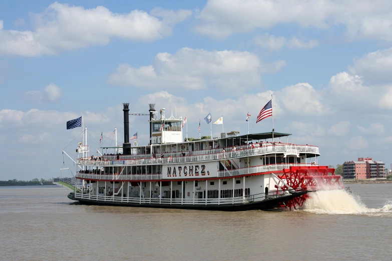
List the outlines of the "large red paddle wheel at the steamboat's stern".
<svg viewBox="0 0 392 261">
<path fill-rule="evenodd" d="M 289 169 L 283 169 L 283 174 L 278 177 L 283 181 L 279 181 L 278 185 L 275 185 L 278 190 L 292 188 L 295 191 L 314 191 L 344 187 L 340 185 L 340 175 L 335 175 L 335 169 L 328 166 L 292 166 Z M 303 194 L 281 202 L 280 206 L 290 210 L 291 208 L 296 209 L 303 205 L 306 198 L 309 198 L 309 195 Z"/>
</svg>

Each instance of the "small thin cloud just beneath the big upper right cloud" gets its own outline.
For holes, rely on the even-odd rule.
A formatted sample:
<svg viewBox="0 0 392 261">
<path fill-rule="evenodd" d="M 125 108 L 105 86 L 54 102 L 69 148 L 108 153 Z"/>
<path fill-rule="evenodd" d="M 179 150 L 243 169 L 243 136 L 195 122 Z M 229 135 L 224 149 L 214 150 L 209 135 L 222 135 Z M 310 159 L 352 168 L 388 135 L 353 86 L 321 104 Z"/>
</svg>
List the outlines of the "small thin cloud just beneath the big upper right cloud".
<svg viewBox="0 0 392 261">
<path fill-rule="evenodd" d="M 312 48 L 318 45 L 317 40 L 304 41 L 295 36 L 287 40 L 283 36 L 269 35 L 268 33 L 265 33 L 263 35 L 257 35 L 254 38 L 254 43 L 264 49 L 275 50 L 275 51 L 280 50 L 284 46 L 287 46 L 289 48 L 305 49 L 305 48 Z"/>
</svg>

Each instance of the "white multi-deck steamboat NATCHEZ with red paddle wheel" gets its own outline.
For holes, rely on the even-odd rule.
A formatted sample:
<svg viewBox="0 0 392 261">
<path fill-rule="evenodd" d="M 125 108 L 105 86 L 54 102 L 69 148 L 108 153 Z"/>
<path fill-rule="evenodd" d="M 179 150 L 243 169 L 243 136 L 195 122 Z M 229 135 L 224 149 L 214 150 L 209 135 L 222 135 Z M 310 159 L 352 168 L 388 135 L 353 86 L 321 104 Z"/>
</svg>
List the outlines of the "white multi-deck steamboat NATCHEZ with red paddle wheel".
<svg viewBox="0 0 392 261">
<path fill-rule="evenodd" d="M 145 114 L 149 144 L 131 144 L 129 103 L 123 105 L 122 146 L 102 146 L 102 153 L 97 150 L 99 154 L 91 156 L 85 128 L 70 199 L 83 204 L 225 211 L 293 209 L 302 206 L 311 191 L 341 187 L 333 168 L 318 165 L 319 148 L 290 143 L 291 134 L 272 129 L 183 138 L 186 118 L 166 117 L 165 109 L 158 114 L 155 104 L 149 104 Z M 104 153 L 108 149 L 114 153 Z"/>
</svg>

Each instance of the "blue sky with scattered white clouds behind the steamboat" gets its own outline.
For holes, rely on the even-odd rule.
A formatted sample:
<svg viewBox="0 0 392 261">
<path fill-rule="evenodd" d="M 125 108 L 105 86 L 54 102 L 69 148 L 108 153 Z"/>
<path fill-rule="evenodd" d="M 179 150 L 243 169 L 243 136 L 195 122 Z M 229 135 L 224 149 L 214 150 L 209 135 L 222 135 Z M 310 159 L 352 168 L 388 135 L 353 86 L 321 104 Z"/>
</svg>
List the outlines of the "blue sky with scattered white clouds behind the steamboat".
<svg viewBox="0 0 392 261">
<path fill-rule="evenodd" d="M 0 179 L 60 175 L 82 114 L 95 150 L 115 126 L 123 141 L 122 102 L 177 109 L 198 136 L 210 110 L 225 131 L 246 133 L 248 111 L 270 131 L 255 118 L 271 94 L 275 130 L 318 145 L 319 163 L 389 166 L 391 71 L 389 0 L 1 1 Z M 148 143 L 147 117 L 130 121 Z"/>
</svg>

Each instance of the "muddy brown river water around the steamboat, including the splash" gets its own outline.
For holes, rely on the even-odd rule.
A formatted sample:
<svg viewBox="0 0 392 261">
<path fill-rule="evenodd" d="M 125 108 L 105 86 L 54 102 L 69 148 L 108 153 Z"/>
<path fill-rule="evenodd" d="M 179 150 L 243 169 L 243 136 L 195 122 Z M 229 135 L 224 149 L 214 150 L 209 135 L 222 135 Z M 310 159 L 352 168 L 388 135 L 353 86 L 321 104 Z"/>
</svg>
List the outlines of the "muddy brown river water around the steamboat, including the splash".
<svg viewBox="0 0 392 261">
<path fill-rule="evenodd" d="M 391 260 L 392 184 L 313 193 L 302 210 L 87 206 L 0 187 L 1 260 Z"/>
</svg>

